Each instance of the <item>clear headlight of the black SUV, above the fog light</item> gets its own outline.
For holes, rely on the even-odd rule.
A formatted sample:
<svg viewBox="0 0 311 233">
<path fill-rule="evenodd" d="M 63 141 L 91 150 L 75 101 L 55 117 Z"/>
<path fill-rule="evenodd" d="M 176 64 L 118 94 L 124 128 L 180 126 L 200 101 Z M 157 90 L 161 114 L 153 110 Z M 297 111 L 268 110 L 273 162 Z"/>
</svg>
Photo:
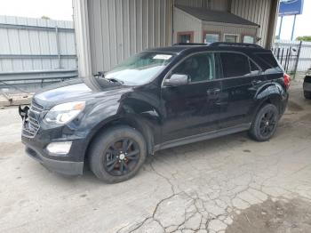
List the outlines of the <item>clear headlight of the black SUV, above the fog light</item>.
<svg viewBox="0 0 311 233">
<path fill-rule="evenodd" d="M 64 125 L 84 110 L 85 102 L 76 101 L 54 106 L 44 117 L 45 122 Z"/>
</svg>

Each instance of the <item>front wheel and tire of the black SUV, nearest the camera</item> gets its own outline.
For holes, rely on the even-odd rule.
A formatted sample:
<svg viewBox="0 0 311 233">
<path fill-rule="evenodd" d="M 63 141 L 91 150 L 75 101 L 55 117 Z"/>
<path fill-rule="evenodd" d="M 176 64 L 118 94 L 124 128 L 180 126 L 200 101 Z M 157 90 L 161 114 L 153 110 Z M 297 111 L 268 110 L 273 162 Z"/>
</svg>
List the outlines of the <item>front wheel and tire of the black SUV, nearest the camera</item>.
<svg viewBox="0 0 311 233">
<path fill-rule="evenodd" d="M 101 181 L 116 183 L 136 175 L 146 157 L 146 141 L 141 133 L 121 125 L 109 128 L 95 138 L 89 163 L 92 173 Z"/>
</svg>

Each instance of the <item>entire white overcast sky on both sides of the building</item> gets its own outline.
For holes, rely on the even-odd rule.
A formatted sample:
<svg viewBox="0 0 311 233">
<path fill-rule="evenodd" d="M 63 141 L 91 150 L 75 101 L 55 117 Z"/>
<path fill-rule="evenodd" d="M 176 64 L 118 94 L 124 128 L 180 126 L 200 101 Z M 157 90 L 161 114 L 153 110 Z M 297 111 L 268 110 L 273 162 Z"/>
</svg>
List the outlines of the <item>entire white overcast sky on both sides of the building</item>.
<svg viewBox="0 0 311 233">
<path fill-rule="evenodd" d="M 47 16 L 52 20 L 72 20 L 72 0 L 0 0 L 0 15 L 31 18 Z M 281 39 L 291 39 L 293 16 L 283 18 Z M 275 35 L 278 35 L 280 17 Z M 297 16 L 294 38 L 311 36 L 311 0 L 304 0 L 302 15 Z"/>
</svg>

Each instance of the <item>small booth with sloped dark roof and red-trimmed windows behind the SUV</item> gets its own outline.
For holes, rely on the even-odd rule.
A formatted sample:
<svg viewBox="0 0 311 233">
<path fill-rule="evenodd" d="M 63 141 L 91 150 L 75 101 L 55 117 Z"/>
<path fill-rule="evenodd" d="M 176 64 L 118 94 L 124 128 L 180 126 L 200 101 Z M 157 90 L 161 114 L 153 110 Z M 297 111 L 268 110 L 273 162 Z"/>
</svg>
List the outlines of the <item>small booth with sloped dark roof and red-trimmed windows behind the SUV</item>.
<svg viewBox="0 0 311 233">
<path fill-rule="evenodd" d="M 259 25 L 230 12 L 175 5 L 174 43 L 257 43 Z"/>
</svg>

